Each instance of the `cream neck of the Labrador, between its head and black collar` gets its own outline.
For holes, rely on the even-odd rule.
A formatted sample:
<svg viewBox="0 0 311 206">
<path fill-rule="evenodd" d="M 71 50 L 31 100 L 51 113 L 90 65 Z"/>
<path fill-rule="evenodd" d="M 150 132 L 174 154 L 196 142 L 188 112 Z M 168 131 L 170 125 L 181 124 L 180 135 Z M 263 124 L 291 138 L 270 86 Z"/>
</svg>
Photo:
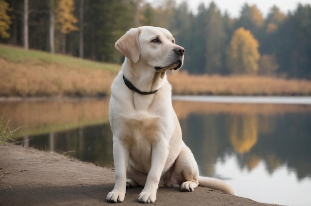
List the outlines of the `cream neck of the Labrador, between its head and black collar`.
<svg viewBox="0 0 311 206">
<path fill-rule="evenodd" d="M 156 93 L 155 91 L 159 90 L 162 82 L 166 80 L 166 71 L 157 72 L 151 66 L 142 67 L 139 63 L 133 63 L 127 58 L 122 66 L 122 73 L 129 89 L 138 90 L 145 95 Z M 138 91 L 135 92 L 139 93 Z"/>
</svg>

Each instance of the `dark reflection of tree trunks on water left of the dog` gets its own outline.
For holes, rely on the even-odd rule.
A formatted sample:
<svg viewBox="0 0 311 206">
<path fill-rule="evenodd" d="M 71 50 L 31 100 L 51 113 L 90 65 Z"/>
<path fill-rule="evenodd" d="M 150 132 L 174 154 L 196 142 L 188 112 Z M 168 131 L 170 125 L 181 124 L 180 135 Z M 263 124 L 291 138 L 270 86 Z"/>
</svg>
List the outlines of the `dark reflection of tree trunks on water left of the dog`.
<svg viewBox="0 0 311 206">
<path fill-rule="evenodd" d="M 23 142 L 24 147 L 56 151 L 82 161 L 113 166 L 112 133 L 109 123 L 26 136 L 15 140 Z"/>
</svg>

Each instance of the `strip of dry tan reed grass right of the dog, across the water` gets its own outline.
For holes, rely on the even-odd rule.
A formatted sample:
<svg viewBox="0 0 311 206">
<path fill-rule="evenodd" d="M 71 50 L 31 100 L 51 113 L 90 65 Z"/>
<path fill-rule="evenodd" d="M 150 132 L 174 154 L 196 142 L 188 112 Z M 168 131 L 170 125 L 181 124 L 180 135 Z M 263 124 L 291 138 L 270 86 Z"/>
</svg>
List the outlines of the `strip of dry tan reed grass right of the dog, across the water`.
<svg viewBox="0 0 311 206">
<path fill-rule="evenodd" d="M 311 95 L 311 81 L 266 76 L 189 75 L 173 71 L 168 75 L 173 94 L 178 95 Z"/>
</svg>

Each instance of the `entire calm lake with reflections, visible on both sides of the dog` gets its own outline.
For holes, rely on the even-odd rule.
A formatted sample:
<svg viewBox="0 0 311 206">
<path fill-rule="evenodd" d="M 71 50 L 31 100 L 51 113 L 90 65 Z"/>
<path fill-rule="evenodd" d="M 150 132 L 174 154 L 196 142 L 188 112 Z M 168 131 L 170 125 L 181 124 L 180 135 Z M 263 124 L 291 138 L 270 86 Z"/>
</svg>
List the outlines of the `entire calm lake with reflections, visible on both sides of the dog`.
<svg viewBox="0 0 311 206">
<path fill-rule="evenodd" d="M 113 166 L 108 99 L 0 101 L 25 147 Z M 173 97 L 201 175 L 262 203 L 311 205 L 311 98 Z"/>
</svg>

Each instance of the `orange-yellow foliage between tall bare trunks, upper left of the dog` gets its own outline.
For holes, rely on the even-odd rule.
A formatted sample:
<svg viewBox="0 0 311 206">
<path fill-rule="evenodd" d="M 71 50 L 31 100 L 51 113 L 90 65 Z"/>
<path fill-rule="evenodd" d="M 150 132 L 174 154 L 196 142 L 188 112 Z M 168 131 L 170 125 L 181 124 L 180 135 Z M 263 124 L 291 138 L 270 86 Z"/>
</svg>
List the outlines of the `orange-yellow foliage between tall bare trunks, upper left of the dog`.
<svg viewBox="0 0 311 206">
<path fill-rule="evenodd" d="M 78 30 L 78 27 L 75 25 L 78 23 L 78 19 L 73 14 L 74 10 L 74 0 L 57 1 L 57 7 L 55 9 L 56 22 L 61 24 L 61 32 L 63 34 Z"/>
</svg>

